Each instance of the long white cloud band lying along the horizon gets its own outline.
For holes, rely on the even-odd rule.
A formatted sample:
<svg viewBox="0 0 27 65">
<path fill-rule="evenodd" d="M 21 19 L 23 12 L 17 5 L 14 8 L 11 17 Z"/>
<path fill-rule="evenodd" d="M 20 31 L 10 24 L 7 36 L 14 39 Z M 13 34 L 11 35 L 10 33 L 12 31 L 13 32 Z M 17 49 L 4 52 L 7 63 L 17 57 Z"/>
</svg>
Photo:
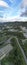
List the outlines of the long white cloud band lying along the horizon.
<svg viewBox="0 0 27 65">
<path fill-rule="evenodd" d="M 27 18 L 25 17 L 18 17 L 18 16 L 15 16 L 15 17 L 8 17 L 8 18 L 0 18 L 0 22 L 14 22 L 14 21 L 27 21 Z"/>
</svg>

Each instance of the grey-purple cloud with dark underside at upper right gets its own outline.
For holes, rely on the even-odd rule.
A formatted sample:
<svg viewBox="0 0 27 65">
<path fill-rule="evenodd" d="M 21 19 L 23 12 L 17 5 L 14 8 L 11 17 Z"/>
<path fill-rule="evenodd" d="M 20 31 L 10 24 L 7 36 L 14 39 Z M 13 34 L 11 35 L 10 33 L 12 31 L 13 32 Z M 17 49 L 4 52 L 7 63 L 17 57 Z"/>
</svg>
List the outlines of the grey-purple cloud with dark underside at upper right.
<svg viewBox="0 0 27 65">
<path fill-rule="evenodd" d="M 19 6 L 19 16 L 27 17 L 27 0 L 22 0 Z"/>
</svg>

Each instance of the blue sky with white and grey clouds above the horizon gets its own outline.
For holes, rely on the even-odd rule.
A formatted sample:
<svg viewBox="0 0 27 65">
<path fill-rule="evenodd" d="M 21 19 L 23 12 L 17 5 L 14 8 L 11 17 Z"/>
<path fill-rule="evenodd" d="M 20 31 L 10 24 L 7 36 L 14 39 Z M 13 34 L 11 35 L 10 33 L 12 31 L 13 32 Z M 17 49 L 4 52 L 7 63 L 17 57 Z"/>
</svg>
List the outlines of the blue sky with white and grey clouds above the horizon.
<svg viewBox="0 0 27 65">
<path fill-rule="evenodd" d="M 0 21 L 27 20 L 27 0 L 0 0 Z"/>
</svg>

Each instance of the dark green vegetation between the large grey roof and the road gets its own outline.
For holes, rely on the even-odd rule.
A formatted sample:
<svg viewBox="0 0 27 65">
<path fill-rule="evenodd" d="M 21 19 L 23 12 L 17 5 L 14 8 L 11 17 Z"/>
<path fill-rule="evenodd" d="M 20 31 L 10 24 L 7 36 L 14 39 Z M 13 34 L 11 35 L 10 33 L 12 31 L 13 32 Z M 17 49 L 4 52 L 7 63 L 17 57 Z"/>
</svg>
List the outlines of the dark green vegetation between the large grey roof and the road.
<svg viewBox="0 0 27 65">
<path fill-rule="evenodd" d="M 13 50 L 9 53 L 8 57 L 4 58 L 1 62 L 1 65 L 9 65 L 9 62 L 12 65 L 26 65 L 19 45 L 15 38 L 11 39 L 11 45 L 13 46 Z"/>
</svg>

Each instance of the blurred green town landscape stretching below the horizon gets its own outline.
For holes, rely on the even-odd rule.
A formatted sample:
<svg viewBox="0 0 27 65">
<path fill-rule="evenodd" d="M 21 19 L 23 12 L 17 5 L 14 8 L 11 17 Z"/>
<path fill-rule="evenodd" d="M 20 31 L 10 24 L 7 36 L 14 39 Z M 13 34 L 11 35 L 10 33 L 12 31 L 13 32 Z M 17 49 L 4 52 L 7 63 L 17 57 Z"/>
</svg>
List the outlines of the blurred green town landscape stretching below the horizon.
<svg viewBox="0 0 27 65">
<path fill-rule="evenodd" d="M 27 22 L 0 23 L 0 65 L 27 65 Z"/>
</svg>

